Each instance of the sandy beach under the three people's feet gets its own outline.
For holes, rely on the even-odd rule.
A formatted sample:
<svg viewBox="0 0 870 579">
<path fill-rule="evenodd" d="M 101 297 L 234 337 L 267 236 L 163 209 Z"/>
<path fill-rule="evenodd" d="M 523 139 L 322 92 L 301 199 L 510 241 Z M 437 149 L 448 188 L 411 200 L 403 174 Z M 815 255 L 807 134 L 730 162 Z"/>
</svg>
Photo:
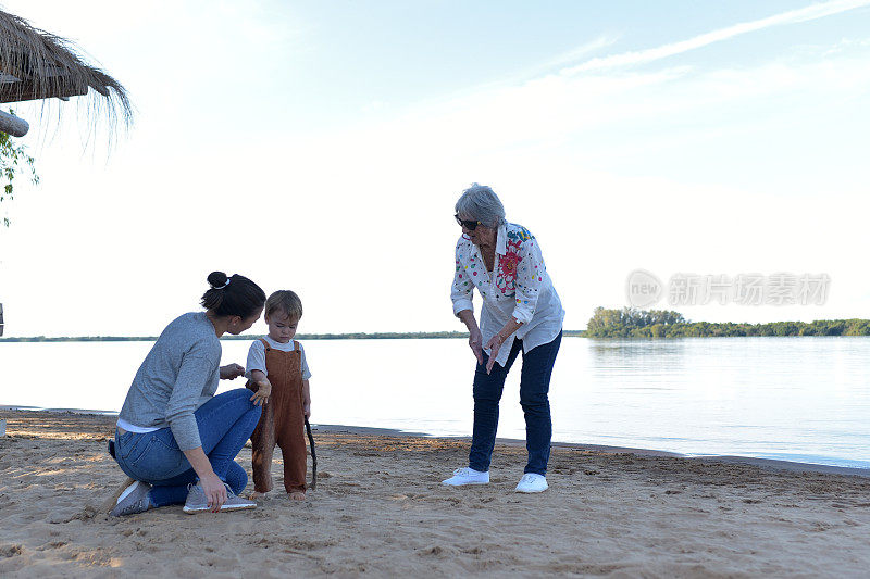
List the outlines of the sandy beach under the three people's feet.
<svg viewBox="0 0 870 579">
<path fill-rule="evenodd" d="M 513 487 L 525 451 L 496 448 L 492 483 L 439 484 L 464 440 L 319 428 L 315 492 L 257 509 L 109 518 L 124 479 L 111 416 L 3 411 L 4 577 L 866 577 L 870 478 L 555 448 L 550 490 Z M 250 449 L 240 455 L 250 473 Z M 281 480 L 281 463 L 275 475 Z M 824 470 L 824 469 L 822 469 Z M 279 482 L 278 482 L 279 487 Z"/>
</svg>

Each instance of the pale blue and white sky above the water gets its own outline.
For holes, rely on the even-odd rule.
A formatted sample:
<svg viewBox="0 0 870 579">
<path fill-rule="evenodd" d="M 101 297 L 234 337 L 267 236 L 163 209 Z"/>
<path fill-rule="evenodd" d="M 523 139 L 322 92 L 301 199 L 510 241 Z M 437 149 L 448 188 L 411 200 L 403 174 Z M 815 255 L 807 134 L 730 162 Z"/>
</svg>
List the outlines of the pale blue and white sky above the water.
<svg viewBox="0 0 870 579">
<path fill-rule="evenodd" d="M 5 204 L 7 336 L 157 335 L 214 269 L 295 290 L 302 332 L 461 330 L 475 181 L 537 237 L 568 329 L 638 268 L 831 280 L 657 305 L 693 320 L 870 317 L 870 0 L 241 4 L 0 0 L 136 113 L 112 136 L 82 98 L 14 106 L 41 180 Z"/>
</svg>

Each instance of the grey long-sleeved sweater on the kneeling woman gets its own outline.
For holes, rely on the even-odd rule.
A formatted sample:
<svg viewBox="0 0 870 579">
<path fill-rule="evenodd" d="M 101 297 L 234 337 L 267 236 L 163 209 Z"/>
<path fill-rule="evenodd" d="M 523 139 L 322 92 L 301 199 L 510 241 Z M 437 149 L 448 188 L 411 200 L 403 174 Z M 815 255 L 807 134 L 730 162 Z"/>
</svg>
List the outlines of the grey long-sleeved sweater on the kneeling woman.
<svg viewBox="0 0 870 579">
<path fill-rule="evenodd" d="M 173 320 L 139 366 L 119 417 L 136 426 L 170 427 L 183 451 L 199 439 L 194 411 L 217 390 L 221 341 L 204 312 Z"/>
</svg>

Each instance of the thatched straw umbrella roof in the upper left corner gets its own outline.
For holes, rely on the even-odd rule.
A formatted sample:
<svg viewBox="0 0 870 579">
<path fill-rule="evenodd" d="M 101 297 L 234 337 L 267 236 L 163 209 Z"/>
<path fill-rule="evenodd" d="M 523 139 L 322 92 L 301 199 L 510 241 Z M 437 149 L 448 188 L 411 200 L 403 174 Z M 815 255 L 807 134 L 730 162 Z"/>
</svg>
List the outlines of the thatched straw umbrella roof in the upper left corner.
<svg viewBox="0 0 870 579">
<path fill-rule="evenodd" d="M 120 116 L 129 122 L 133 111 L 121 83 L 86 64 L 70 41 L 0 11 L 0 103 L 67 100 L 87 95 L 91 88 L 100 95 L 95 97 L 108 104 L 98 103 L 98 109 L 105 111 L 110 121 Z"/>
</svg>

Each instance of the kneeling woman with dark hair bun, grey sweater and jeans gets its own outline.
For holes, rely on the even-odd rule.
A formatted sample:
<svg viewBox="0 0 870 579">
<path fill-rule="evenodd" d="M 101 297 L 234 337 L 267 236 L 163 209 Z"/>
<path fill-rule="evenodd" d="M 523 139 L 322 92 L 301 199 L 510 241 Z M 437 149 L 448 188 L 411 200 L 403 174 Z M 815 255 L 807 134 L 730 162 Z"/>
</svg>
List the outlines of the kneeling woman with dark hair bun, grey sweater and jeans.
<svg viewBox="0 0 870 579">
<path fill-rule="evenodd" d="M 209 275 L 206 312 L 184 314 L 160 335 L 142 362 L 117 418 L 115 460 L 136 482 L 114 516 L 184 504 L 185 513 L 252 508 L 238 496 L 248 483 L 235 462 L 260 419 L 245 388 L 214 395 L 217 379 L 245 368 L 220 366 L 224 333 L 241 333 L 260 317 L 265 293 L 240 275 Z M 259 401 L 258 401 L 259 402 Z"/>
</svg>

